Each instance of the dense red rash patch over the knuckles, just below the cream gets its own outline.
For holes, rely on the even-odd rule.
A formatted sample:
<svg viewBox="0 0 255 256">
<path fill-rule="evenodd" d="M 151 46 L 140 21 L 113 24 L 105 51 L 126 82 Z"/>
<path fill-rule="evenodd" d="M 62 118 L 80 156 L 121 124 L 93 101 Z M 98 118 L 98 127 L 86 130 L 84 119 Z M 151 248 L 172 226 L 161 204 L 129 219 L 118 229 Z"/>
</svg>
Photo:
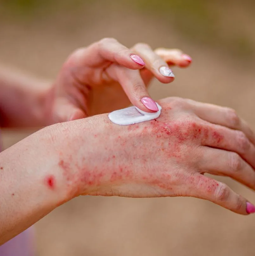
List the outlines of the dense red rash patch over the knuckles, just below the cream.
<svg viewBox="0 0 255 256">
<path fill-rule="evenodd" d="M 187 148 L 191 147 L 194 143 L 200 145 L 209 144 L 217 148 L 221 146 L 224 140 L 220 131 L 214 130 L 209 125 L 202 125 L 185 119 L 168 121 L 167 118 L 163 117 L 151 120 L 149 125 L 147 123 L 147 126 L 130 125 L 128 127 L 128 131 L 136 132 L 139 129 L 140 131 L 142 129 L 142 134 L 148 133 L 149 136 L 156 138 L 154 143 L 157 144 L 157 147 L 159 146 L 157 151 L 165 152 L 168 157 L 186 157 L 182 153 L 184 152 L 182 145 L 185 145 Z M 167 145 L 165 139 L 168 138 L 171 139 Z"/>
</svg>

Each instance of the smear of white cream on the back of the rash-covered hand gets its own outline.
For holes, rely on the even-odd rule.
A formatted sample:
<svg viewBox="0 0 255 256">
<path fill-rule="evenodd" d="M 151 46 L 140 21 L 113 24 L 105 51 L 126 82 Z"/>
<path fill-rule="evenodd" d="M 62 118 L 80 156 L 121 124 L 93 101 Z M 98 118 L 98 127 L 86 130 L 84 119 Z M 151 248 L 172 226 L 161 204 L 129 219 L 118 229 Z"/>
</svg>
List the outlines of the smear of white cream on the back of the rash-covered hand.
<svg viewBox="0 0 255 256">
<path fill-rule="evenodd" d="M 156 103 L 157 104 L 157 103 Z M 162 107 L 158 106 L 158 111 L 154 113 L 144 112 L 135 106 L 119 109 L 108 114 L 110 120 L 117 125 L 132 125 L 144 121 L 156 119 L 160 116 Z"/>
</svg>

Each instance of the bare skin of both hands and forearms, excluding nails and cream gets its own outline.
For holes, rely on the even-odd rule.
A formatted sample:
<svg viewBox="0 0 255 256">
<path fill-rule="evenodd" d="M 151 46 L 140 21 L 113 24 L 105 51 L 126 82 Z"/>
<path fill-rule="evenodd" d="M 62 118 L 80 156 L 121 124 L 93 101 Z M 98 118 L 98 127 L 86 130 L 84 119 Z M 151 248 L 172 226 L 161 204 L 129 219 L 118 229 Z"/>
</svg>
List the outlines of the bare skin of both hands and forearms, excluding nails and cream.
<svg viewBox="0 0 255 256">
<path fill-rule="evenodd" d="M 146 68 L 130 62 L 137 52 Z M 193 196 L 247 215 L 245 198 L 204 175 L 229 176 L 255 189 L 255 137 L 232 109 L 167 98 L 158 102 L 159 118 L 136 125 L 115 125 L 100 114 L 125 107 L 128 99 L 150 112 L 141 102 L 149 96 L 146 85 L 153 76 L 171 82 L 159 67 L 188 66 L 186 58 L 180 50 L 144 44 L 127 50 L 106 39 L 71 54 L 47 89 L 36 93 L 12 80 L 19 98 L 5 99 L 5 127 L 24 125 L 18 118 L 24 109 L 26 125 L 57 124 L 0 153 L 0 244 L 79 195 Z"/>
</svg>

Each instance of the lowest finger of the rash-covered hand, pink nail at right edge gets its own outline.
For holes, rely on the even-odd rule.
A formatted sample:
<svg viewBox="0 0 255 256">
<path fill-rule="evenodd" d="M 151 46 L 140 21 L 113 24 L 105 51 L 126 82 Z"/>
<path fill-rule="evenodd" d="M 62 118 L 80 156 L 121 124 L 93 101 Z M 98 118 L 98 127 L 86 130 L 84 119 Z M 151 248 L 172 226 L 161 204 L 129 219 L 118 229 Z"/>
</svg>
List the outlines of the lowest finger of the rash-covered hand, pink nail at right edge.
<svg viewBox="0 0 255 256">
<path fill-rule="evenodd" d="M 235 193 L 225 183 L 201 174 L 194 177 L 194 184 L 189 190 L 189 196 L 211 201 L 243 215 L 255 212 L 255 207 L 251 203 Z"/>
</svg>

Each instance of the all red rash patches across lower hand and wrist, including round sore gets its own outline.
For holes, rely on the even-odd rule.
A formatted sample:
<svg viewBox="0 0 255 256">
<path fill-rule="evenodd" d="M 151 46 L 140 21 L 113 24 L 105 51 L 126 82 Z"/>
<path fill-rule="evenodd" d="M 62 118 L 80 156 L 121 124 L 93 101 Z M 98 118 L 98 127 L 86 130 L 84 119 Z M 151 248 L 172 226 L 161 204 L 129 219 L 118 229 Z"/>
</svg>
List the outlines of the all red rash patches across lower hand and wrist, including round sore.
<svg viewBox="0 0 255 256">
<path fill-rule="evenodd" d="M 146 126 L 145 126 L 146 125 Z M 165 159 L 169 157 L 175 158 L 185 158 L 187 157 L 187 152 L 189 154 L 189 149 L 192 148 L 194 144 L 206 145 L 209 141 L 210 144 L 215 147 L 219 146 L 222 143 L 224 137 L 220 134 L 219 131 L 215 131 L 210 126 L 197 124 L 191 120 L 177 120 L 177 121 L 168 121 L 166 118 L 158 118 L 146 122 L 144 124 L 135 124 L 129 125 L 127 131 L 130 133 L 134 132 L 136 135 L 146 138 L 146 135 L 153 138 L 153 143 L 151 149 L 145 149 L 145 154 L 141 154 L 143 146 L 141 144 L 140 154 L 137 155 L 136 151 L 131 157 L 134 162 L 138 159 L 138 163 L 141 164 L 142 168 L 147 168 L 147 150 L 154 150 L 154 153 L 165 154 Z M 100 135 L 94 134 L 94 138 L 101 139 Z M 169 139 L 169 140 L 168 140 Z M 116 142 L 124 148 L 133 147 L 137 144 L 134 142 L 129 143 L 127 136 L 116 136 Z M 184 147 L 186 150 L 183 150 Z M 155 149 L 156 147 L 156 149 Z M 78 163 L 75 161 L 75 157 L 70 155 L 69 157 L 64 157 L 60 154 L 59 167 L 63 170 L 63 176 L 65 177 L 68 186 L 71 186 L 74 189 L 72 192 L 74 194 L 79 193 L 80 189 L 86 194 L 86 189 L 89 187 L 97 188 L 101 184 L 104 185 L 106 182 L 115 182 L 118 184 L 121 180 L 131 180 L 136 178 L 135 170 L 133 166 L 133 161 L 130 161 L 128 165 L 121 164 L 119 165 L 119 155 L 115 151 L 112 151 L 112 154 L 109 154 L 110 149 L 105 155 L 105 159 L 102 160 L 104 164 L 100 164 L 100 168 L 97 167 L 95 163 L 94 167 L 88 169 L 89 159 L 85 157 L 80 159 Z M 128 156 L 129 153 L 127 154 Z M 101 156 L 104 157 L 104 156 Z M 125 155 L 124 155 L 125 157 Z M 131 158 L 131 159 L 132 159 Z M 62 160 L 65 159 L 65 160 Z M 182 159 L 177 159 L 178 161 L 183 161 Z M 110 164 L 109 164 L 110 163 Z M 208 179 L 204 176 L 201 177 L 176 177 L 176 175 L 165 174 L 165 176 L 159 177 L 158 180 L 153 179 L 153 176 L 150 177 L 150 173 L 145 173 L 145 176 L 141 177 L 144 180 L 148 180 L 153 185 L 157 185 L 162 189 L 173 189 L 173 185 L 178 184 L 180 180 L 186 180 L 190 185 L 199 186 L 205 189 L 208 193 L 212 193 L 218 186 L 218 183 L 208 182 Z M 199 180 L 198 180 L 199 179 Z M 49 188 L 53 189 L 55 186 L 55 179 L 53 176 L 47 177 L 47 185 Z"/>
</svg>

